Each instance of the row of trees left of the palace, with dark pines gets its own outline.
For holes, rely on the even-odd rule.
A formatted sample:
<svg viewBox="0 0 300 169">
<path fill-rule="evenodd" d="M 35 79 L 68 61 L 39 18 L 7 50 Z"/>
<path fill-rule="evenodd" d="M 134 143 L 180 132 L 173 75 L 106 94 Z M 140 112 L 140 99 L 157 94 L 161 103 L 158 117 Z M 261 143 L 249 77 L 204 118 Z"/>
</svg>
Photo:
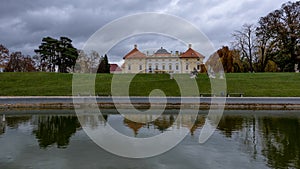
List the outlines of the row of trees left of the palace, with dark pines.
<svg viewBox="0 0 300 169">
<path fill-rule="evenodd" d="M 99 56 L 95 51 L 90 55 L 85 54 L 72 45 L 68 37 L 55 39 L 44 37 L 34 56 L 25 56 L 22 52 L 12 52 L 0 44 L 0 68 L 4 72 L 75 72 L 76 68 L 82 70 L 82 65 L 87 68 L 84 72 L 110 73 L 108 57 Z M 76 61 L 79 63 L 76 64 Z M 82 63 L 83 62 L 83 63 Z M 81 63 L 81 64 L 80 64 Z M 88 70 L 87 70 L 88 69 Z"/>
</svg>

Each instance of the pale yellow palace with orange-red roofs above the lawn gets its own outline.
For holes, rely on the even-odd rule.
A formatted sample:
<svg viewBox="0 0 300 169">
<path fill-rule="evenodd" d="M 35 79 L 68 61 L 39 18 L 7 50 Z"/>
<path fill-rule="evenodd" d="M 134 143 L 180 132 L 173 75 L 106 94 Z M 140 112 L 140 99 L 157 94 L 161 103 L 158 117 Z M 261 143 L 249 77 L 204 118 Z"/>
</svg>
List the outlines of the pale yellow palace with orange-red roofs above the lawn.
<svg viewBox="0 0 300 169">
<path fill-rule="evenodd" d="M 185 52 L 170 53 L 161 47 L 153 54 L 142 53 L 134 45 L 123 59 L 123 73 L 190 73 L 201 70 L 204 56 L 192 49 L 191 44 Z"/>
</svg>

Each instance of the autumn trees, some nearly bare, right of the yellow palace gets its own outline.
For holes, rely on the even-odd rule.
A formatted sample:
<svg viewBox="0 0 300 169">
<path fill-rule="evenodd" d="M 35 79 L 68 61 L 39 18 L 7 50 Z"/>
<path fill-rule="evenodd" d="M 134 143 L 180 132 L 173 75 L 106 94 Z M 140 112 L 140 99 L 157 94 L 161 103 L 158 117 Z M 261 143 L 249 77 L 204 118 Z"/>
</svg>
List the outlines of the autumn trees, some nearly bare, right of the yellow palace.
<svg viewBox="0 0 300 169">
<path fill-rule="evenodd" d="M 231 49 L 222 47 L 208 63 L 220 59 L 225 72 L 299 70 L 300 1 L 284 3 L 256 24 L 244 24 L 232 37 Z"/>
</svg>

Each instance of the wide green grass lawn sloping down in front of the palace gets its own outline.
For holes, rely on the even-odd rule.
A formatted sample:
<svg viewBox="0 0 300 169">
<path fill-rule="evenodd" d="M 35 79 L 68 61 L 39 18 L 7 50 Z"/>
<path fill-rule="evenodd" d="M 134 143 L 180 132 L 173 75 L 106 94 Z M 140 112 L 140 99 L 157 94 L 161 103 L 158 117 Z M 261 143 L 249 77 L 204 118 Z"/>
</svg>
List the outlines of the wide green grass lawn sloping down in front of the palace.
<svg viewBox="0 0 300 169">
<path fill-rule="evenodd" d="M 128 79 L 129 76 L 127 74 L 115 76 L 121 79 L 114 80 L 114 84 L 130 84 L 131 96 L 148 96 L 154 89 L 161 89 L 167 96 L 180 96 L 178 84 L 174 79 L 170 80 L 168 74 L 139 74 L 133 80 Z M 94 82 L 93 77 L 87 74 L 80 77 L 76 85 L 85 88 L 81 94 L 88 94 L 85 92 L 92 87 L 86 84 L 88 81 L 91 82 L 91 79 Z M 97 74 L 95 81 L 97 95 L 111 94 L 112 77 L 111 74 Z M 0 96 L 70 96 L 72 78 L 72 74 L 60 73 L 0 73 Z M 181 81 L 189 89 L 192 81 L 188 75 L 176 75 L 177 78 L 182 79 Z M 215 81 L 217 84 L 220 82 L 220 80 Z M 226 74 L 226 83 L 227 92 L 244 93 L 244 96 L 300 97 L 300 74 L 296 73 L 231 73 Z M 211 92 L 211 83 L 206 74 L 198 76 L 197 84 L 201 93 Z M 126 95 L 123 88 L 116 89 L 118 95 Z M 191 90 L 185 95 L 193 95 L 193 93 L 195 92 Z"/>
</svg>

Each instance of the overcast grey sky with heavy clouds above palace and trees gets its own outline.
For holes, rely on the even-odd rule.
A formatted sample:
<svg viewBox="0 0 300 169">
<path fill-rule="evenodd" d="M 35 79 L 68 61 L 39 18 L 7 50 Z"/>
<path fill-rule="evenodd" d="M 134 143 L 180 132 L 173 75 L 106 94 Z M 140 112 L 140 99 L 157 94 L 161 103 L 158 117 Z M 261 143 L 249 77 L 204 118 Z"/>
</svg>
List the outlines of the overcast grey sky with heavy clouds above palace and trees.
<svg viewBox="0 0 300 169">
<path fill-rule="evenodd" d="M 105 24 L 122 16 L 159 12 L 181 17 L 202 30 L 215 48 L 230 45 L 231 33 L 244 23 L 279 9 L 285 0 L 1 0 L 0 43 L 11 52 L 33 55 L 45 36 L 67 36 L 81 49 L 88 38 Z M 174 40 L 171 40 L 174 41 Z M 111 52 L 118 62 L 134 43 L 142 49 L 177 50 L 180 43 L 147 36 L 129 38 Z M 176 45 L 174 45 L 176 44 Z M 179 50 L 182 50 L 180 48 Z M 118 56 L 122 55 L 122 56 Z"/>
</svg>

